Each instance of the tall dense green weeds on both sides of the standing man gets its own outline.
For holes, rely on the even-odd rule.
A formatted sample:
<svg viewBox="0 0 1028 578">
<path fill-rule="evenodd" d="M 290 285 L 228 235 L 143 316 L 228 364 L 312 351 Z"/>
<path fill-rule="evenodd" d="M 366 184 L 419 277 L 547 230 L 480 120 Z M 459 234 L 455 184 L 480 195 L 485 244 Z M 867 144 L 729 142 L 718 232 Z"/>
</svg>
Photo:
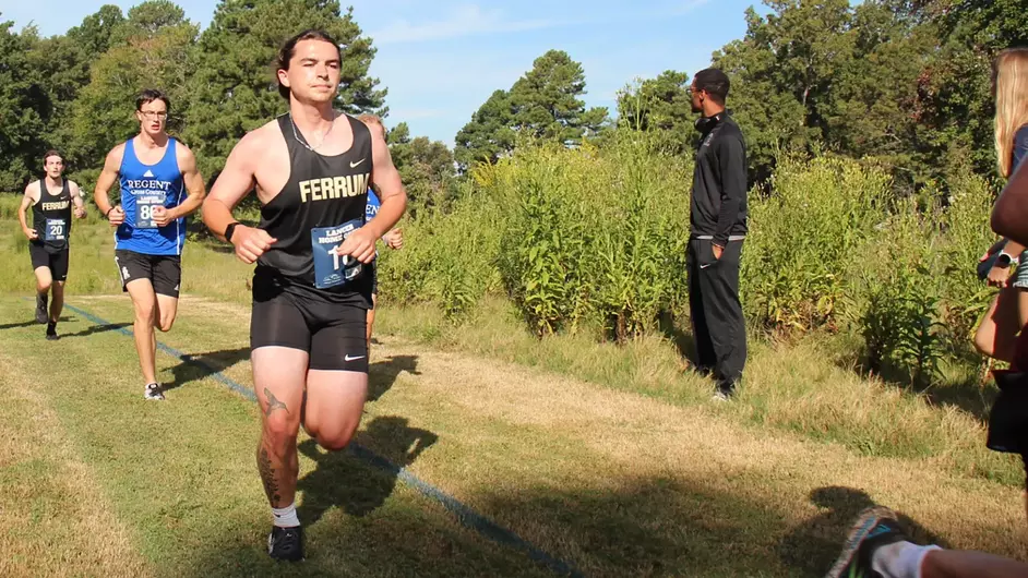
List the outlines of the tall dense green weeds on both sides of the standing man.
<svg viewBox="0 0 1028 578">
<path fill-rule="evenodd" d="M 525 147 L 470 173 L 452 212 L 407 224 L 382 293 L 456 317 L 502 293 L 537 335 L 605 327 L 623 340 L 686 309 L 692 167 L 645 133 L 599 146 Z M 991 292 L 975 277 L 992 241 L 993 188 L 968 177 L 951 197 L 897 198 L 873 164 L 782 159 L 750 194 L 742 300 L 769 336 L 847 332 L 872 371 L 931 381 L 969 351 Z M 941 189 L 940 189 L 941 190 Z"/>
</svg>

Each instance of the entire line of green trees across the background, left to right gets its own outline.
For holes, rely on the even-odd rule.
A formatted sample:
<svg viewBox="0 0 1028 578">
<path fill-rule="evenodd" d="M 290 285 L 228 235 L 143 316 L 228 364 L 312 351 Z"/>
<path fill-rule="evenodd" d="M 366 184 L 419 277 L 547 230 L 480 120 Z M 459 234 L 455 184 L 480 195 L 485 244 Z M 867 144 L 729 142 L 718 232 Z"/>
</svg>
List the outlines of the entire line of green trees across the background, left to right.
<svg viewBox="0 0 1028 578">
<path fill-rule="evenodd" d="M 765 15 L 746 11 L 742 38 L 712 56 L 732 79 L 730 108 L 746 134 L 754 181 L 770 177 L 784 155 L 825 153 L 874 159 L 910 191 L 994 174 L 992 60 L 1028 45 L 1020 0 L 765 4 Z M 169 129 L 213 178 L 246 131 L 285 111 L 272 62 L 282 40 L 307 27 L 342 45 L 337 107 L 386 116 L 387 91 L 369 75 L 373 39 L 337 0 L 222 0 L 203 32 L 170 0 L 127 13 L 104 5 L 51 37 L 0 17 L 0 190 L 21 190 L 55 145 L 73 178 L 91 183 L 104 154 L 138 129 L 127 107 L 144 86 L 169 94 Z M 582 65 L 550 50 L 471 115 L 453 150 L 413 137 L 405 123 L 390 143 L 415 207 L 446 203 L 471 165 L 497 162 L 526 143 L 573 147 L 648 131 L 669 153 L 689 155 L 690 81 L 676 70 L 636 80 L 621 91 L 613 119 L 586 107 Z"/>
</svg>

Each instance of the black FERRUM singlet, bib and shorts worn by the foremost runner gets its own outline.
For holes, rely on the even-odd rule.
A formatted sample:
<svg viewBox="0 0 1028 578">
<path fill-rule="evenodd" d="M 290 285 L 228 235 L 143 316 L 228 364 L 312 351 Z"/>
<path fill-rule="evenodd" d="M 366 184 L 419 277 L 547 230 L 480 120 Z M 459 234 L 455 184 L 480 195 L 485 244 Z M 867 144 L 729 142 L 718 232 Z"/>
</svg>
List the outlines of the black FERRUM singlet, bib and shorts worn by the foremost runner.
<svg viewBox="0 0 1028 578">
<path fill-rule="evenodd" d="M 277 120 L 289 180 L 261 208 L 259 228 L 277 241 L 254 272 L 250 347 L 302 349 L 313 370 L 367 372 L 367 344 L 357 341 L 371 306 L 371 275 L 332 252 L 363 225 L 371 133 L 348 116 L 336 122 L 343 120 L 354 141 L 335 156 L 313 152 L 288 115 Z"/>
</svg>

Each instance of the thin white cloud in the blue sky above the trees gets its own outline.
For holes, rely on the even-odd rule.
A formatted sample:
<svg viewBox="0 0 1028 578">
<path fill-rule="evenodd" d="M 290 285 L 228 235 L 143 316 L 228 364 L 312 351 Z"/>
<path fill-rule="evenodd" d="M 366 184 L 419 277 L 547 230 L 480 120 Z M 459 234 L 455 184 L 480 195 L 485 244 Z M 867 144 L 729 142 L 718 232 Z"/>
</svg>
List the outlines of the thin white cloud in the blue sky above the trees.
<svg viewBox="0 0 1028 578">
<path fill-rule="evenodd" d="M 501 10 L 483 11 L 477 4 L 465 4 L 453 10 L 446 20 L 418 24 L 398 20 L 370 36 L 376 45 L 385 45 L 530 31 L 555 25 L 558 22 L 552 20 L 509 20 Z"/>
</svg>

